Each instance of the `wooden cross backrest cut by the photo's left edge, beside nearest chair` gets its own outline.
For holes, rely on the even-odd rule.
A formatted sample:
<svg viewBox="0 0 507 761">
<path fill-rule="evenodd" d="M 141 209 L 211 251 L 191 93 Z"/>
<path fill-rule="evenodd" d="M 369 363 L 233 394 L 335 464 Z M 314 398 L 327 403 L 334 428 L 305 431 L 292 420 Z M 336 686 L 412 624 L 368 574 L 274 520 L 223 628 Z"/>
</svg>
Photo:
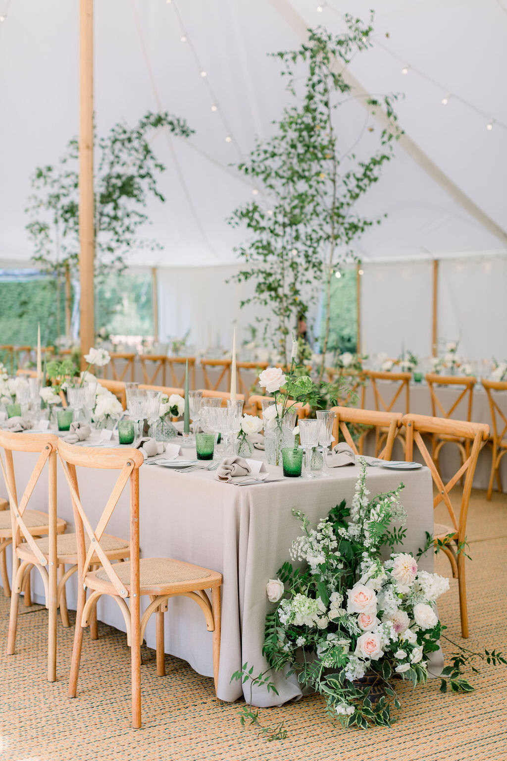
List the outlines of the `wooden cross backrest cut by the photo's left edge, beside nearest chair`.
<svg viewBox="0 0 507 761">
<path fill-rule="evenodd" d="M 40 548 L 36 545 L 27 524 L 25 523 L 25 511 L 28 502 L 33 494 L 41 473 L 48 463 L 49 467 L 49 493 L 48 493 L 48 525 L 52 526 L 53 531 L 50 537 L 54 537 L 54 542 L 49 543 L 49 557 L 52 562 L 56 560 L 56 448 L 58 438 L 49 434 L 30 434 L 30 433 L 11 433 L 9 431 L 0 431 L 0 447 L 5 454 L 5 465 L 0 455 L 0 470 L 5 479 L 5 487 L 9 497 L 9 509 L 11 511 L 12 521 L 12 544 L 16 547 L 21 537 L 28 543 L 33 554 L 40 565 L 46 565 L 46 558 L 43 556 Z M 24 489 L 21 500 L 17 499 L 16 477 L 14 474 L 13 452 L 33 452 L 39 453 L 27 486 Z"/>
</svg>

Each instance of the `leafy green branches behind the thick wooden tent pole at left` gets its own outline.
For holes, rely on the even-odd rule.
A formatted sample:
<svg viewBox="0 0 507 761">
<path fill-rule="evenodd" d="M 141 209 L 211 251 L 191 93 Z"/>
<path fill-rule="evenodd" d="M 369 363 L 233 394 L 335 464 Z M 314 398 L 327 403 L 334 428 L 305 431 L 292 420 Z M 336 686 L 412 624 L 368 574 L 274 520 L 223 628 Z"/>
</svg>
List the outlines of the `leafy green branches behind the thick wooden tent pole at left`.
<svg viewBox="0 0 507 761">
<path fill-rule="evenodd" d="M 192 134 L 184 119 L 149 111 L 135 126 L 117 123 L 96 141 L 96 277 L 121 272 L 132 250 L 159 247 L 139 235 L 149 223 L 144 211 L 148 198 L 165 201 L 157 184 L 165 167 L 149 142 L 159 129 L 185 138 Z M 57 301 L 63 279 L 74 275 L 79 263 L 78 158 L 78 139 L 73 138 L 57 164 L 37 167 L 26 209 L 33 262 L 55 279 Z"/>
</svg>

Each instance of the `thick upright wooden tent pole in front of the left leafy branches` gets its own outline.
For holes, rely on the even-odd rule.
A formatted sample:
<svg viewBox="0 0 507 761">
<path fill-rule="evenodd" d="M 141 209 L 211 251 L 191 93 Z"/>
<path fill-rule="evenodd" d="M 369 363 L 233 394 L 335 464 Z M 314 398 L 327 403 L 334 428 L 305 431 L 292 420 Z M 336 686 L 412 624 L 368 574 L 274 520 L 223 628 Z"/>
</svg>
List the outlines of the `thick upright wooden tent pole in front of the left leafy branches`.
<svg viewBox="0 0 507 761">
<path fill-rule="evenodd" d="M 93 0 L 79 0 L 79 277 L 81 365 L 95 339 L 93 271 Z"/>
</svg>

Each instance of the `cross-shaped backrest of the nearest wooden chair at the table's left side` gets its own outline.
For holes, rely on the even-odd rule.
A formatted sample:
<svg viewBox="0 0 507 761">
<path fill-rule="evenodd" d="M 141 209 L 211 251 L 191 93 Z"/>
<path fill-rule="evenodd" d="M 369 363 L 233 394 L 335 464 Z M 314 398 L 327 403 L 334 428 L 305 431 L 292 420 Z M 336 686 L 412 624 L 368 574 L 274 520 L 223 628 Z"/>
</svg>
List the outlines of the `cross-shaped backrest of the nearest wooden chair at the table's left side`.
<svg viewBox="0 0 507 761">
<path fill-rule="evenodd" d="M 125 598 L 132 595 L 139 599 L 139 468 L 144 462 L 143 456 L 138 449 L 93 449 L 91 447 L 76 447 L 74 444 L 66 444 L 62 439 L 58 442 L 58 454 L 62 462 L 65 479 L 71 491 L 72 509 L 78 543 L 78 572 L 80 583 L 84 581 L 90 566 L 93 554 L 96 553 L 103 568 L 115 588 L 119 597 Z M 78 474 L 76 466 L 102 470 L 119 470 L 119 476 L 112 488 L 109 498 L 106 500 L 97 526 L 93 528 L 90 518 L 81 502 L 78 486 Z M 106 530 L 109 519 L 118 505 L 119 498 L 127 483 L 130 482 L 130 562 L 131 579 L 130 590 L 127 585 L 119 580 L 114 566 L 106 556 L 106 552 L 100 547 L 100 539 Z M 94 497 L 97 502 L 97 497 Z M 85 532 L 90 540 L 88 550 L 85 549 Z"/>
</svg>

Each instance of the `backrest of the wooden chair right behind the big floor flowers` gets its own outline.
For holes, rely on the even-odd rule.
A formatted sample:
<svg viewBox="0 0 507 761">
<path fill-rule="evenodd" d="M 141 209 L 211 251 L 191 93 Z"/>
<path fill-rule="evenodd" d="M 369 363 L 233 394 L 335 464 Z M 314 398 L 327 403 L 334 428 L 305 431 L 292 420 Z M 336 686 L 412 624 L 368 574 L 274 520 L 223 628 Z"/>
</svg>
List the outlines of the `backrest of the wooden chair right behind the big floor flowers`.
<svg viewBox="0 0 507 761">
<path fill-rule="evenodd" d="M 458 541 L 464 541 L 467 525 L 468 501 L 470 500 L 472 483 L 474 481 L 475 468 L 477 466 L 477 457 L 483 445 L 485 444 L 490 433 L 490 426 L 486 423 L 471 423 L 466 420 L 448 420 L 434 418 L 425 415 L 405 415 L 402 423 L 406 431 L 405 460 L 410 462 L 414 460 L 414 444 L 420 451 L 424 462 L 429 467 L 433 482 L 435 483 L 438 493 L 433 500 L 433 508 L 436 508 L 440 502 L 445 502 L 448 514 L 451 517 L 452 525 L 458 535 Z M 473 441 L 470 454 L 456 471 L 455 475 L 444 484 L 435 463 L 429 454 L 426 444 L 423 440 L 424 434 L 443 434 L 464 438 Z M 449 497 L 449 492 L 465 475 L 463 495 L 461 496 L 461 508 L 459 515 L 456 516 Z"/>
</svg>

